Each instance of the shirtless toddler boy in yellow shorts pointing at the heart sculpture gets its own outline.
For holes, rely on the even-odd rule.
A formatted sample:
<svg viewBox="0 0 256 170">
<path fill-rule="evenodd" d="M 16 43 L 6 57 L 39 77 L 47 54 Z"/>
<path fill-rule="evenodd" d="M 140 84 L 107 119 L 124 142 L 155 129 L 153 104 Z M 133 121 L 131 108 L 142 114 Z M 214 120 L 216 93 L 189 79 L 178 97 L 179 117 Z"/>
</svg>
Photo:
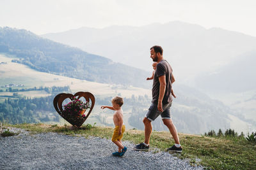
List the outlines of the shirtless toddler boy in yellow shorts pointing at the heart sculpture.
<svg viewBox="0 0 256 170">
<path fill-rule="evenodd" d="M 113 115 L 113 121 L 115 124 L 115 130 L 113 132 L 112 141 L 118 146 L 118 152 L 112 153 L 113 156 L 122 157 L 126 152 L 127 148 L 122 145 L 121 139 L 125 131 L 125 125 L 123 124 L 123 110 L 121 106 L 124 104 L 124 99 L 122 97 L 114 97 L 112 99 L 113 106 L 101 106 L 102 109 L 108 108 L 110 110 L 115 110 Z"/>
</svg>

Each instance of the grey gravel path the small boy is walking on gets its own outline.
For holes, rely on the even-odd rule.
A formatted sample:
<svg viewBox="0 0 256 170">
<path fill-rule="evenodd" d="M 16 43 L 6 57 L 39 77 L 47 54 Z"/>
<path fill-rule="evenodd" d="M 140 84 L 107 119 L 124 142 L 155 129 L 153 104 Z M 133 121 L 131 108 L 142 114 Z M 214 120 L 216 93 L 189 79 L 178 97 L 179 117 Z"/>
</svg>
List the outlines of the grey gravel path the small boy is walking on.
<svg viewBox="0 0 256 170">
<path fill-rule="evenodd" d="M 127 141 L 125 155 L 113 157 L 117 147 L 108 139 L 9 129 L 19 135 L 0 136 L 0 169 L 204 169 L 167 152 L 134 151 Z"/>
</svg>

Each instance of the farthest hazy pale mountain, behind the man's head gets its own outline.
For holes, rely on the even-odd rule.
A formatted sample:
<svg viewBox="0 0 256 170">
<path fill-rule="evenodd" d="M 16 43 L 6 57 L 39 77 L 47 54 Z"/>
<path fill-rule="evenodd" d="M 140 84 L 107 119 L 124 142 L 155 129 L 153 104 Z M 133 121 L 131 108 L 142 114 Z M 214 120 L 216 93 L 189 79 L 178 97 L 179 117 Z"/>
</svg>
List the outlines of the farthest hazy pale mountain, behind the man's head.
<svg viewBox="0 0 256 170">
<path fill-rule="evenodd" d="M 256 50 L 253 36 L 179 21 L 141 27 L 82 27 L 42 36 L 147 71 L 152 70 L 149 48 L 161 45 L 164 58 L 182 81 L 215 71 L 237 56 Z"/>
</svg>

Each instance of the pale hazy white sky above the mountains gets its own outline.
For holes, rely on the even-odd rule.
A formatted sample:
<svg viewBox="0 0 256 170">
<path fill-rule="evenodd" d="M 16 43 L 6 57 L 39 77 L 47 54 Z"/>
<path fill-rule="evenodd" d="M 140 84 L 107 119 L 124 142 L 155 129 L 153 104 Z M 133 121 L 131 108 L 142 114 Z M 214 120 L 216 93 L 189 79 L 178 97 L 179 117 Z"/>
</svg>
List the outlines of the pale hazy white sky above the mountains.
<svg viewBox="0 0 256 170">
<path fill-rule="evenodd" d="M 36 34 L 174 20 L 256 36 L 255 0 L 0 0 L 0 27 Z"/>
</svg>

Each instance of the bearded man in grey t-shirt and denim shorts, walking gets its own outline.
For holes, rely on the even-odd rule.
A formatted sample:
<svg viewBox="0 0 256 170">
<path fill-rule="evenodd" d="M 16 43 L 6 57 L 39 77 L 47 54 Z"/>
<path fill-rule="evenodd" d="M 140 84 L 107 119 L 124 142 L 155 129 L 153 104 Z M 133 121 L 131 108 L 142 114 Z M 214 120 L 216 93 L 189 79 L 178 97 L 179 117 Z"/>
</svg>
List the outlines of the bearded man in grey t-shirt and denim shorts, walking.
<svg viewBox="0 0 256 170">
<path fill-rule="evenodd" d="M 175 81 L 172 74 L 172 67 L 163 59 L 163 48 L 161 46 L 152 46 L 152 48 L 150 48 L 150 58 L 152 58 L 154 62 L 157 62 L 152 88 L 152 104 L 143 119 L 145 125 L 145 141 L 144 143 L 134 146 L 134 150 L 149 149 L 149 139 L 152 132 L 151 122 L 161 115 L 164 125 L 168 127 L 175 141 L 175 145 L 167 150 L 182 152 L 176 127 L 173 125 L 170 117 L 172 83 Z"/>
</svg>

